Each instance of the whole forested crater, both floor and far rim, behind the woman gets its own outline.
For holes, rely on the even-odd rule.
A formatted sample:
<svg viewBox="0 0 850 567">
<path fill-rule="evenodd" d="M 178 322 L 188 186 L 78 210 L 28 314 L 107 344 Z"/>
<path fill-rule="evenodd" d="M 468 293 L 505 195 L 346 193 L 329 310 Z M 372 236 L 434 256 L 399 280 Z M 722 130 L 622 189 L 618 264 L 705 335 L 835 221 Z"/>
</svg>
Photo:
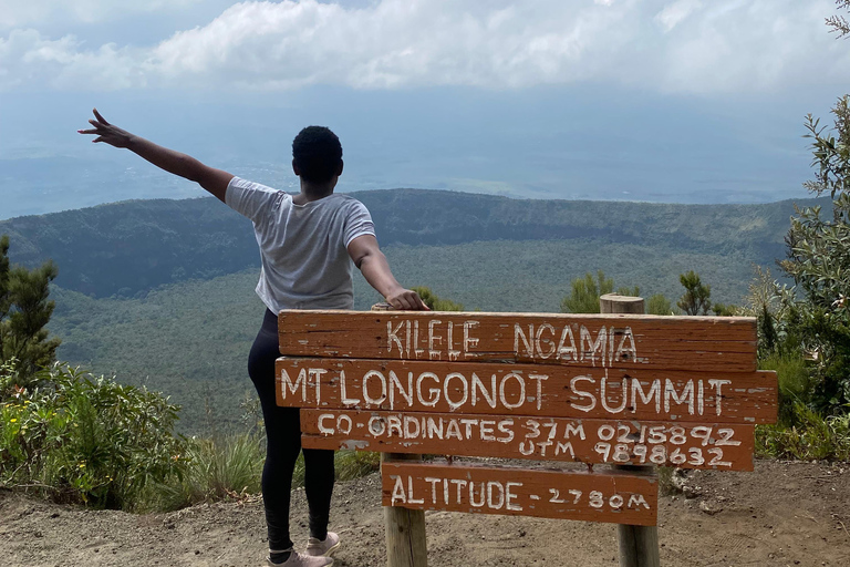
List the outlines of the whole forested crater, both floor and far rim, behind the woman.
<svg viewBox="0 0 850 567">
<path fill-rule="evenodd" d="M 792 202 L 657 205 L 519 200 L 393 189 L 354 194 L 406 286 L 469 309 L 558 311 L 570 281 L 602 269 L 642 295 L 682 293 L 694 269 L 739 302 L 753 265 L 784 257 Z M 811 200 L 800 200 L 808 204 Z M 825 205 L 828 202 L 825 203 Z M 263 307 L 250 221 L 212 198 L 139 200 L 0 221 L 12 261 L 60 267 L 59 355 L 160 390 L 186 432 L 236 426 L 245 361 Z M 776 271 L 776 270 L 775 270 Z M 355 276 L 355 308 L 376 293 Z"/>
</svg>

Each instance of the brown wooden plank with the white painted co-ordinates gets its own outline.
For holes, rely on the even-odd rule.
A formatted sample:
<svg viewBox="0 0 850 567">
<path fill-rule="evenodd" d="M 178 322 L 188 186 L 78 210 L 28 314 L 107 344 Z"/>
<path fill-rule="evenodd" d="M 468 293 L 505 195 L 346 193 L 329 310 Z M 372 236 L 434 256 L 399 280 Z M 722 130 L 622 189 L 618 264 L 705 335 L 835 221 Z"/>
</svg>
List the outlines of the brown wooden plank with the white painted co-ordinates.
<svg viewBox="0 0 850 567">
<path fill-rule="evenodd" d="M 753 471 L 753 425 L 301 410 L 307 449 Z"/>
</svg>

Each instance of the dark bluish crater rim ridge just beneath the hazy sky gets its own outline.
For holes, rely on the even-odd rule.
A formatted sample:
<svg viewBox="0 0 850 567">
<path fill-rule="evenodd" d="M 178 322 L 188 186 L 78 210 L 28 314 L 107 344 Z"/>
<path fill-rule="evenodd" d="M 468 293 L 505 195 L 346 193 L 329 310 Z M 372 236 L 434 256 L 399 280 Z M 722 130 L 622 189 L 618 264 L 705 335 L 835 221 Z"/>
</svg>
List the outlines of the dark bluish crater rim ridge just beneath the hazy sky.
<svg viewBox="0 0 850 567">
<path fill-rule="evenodd" d="M 434 189 L 350 193 L 372 213 L 382 246 L 491 240 L 629 243 L 694 252 L 784 255 L 794 199 L 756 205 L 538 200 Z M 56 284 L 94 297 L 134 297 L 185 279 L 259 266 L 250 221 L 214 197 L 133 199 L 0 221 L 10 257 L 53 258 Z"/>
</svg>

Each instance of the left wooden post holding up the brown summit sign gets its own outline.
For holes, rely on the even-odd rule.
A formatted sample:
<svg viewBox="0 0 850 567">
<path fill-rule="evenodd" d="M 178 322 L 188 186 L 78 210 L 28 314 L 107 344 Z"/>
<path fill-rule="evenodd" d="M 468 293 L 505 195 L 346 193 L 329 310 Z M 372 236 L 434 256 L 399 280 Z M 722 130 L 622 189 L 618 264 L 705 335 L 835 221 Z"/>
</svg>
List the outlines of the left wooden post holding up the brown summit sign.
<svg viewBox="0 0 850 567">
<path fill-rule="evenodd" d="M 372 311 L 391 311 L 388 303 L 376 303 Z M 422 455 L 381 453 L 381 463 L 392 461 L 422 461 Z M 398 506 L 384 506 L 387 567 L 427 567 L 428 550 L 425 539 L 425 512 Z"/>
</svg>

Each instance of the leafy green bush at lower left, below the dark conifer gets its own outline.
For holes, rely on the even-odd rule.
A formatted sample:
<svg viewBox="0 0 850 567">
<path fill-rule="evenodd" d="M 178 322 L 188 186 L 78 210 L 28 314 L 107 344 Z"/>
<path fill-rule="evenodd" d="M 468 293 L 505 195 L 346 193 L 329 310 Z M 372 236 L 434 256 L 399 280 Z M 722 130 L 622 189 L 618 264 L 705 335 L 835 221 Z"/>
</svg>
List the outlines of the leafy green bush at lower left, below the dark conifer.
<svg viewBox="0 0 850 567">
<path fill-rule="evenodd" d="M 178 473 L 178 408 L 146 389 L 62 365 L 14 385 L 0 367 L 0 485 L 95 508 L 136 508 Z"/>
</svg>

